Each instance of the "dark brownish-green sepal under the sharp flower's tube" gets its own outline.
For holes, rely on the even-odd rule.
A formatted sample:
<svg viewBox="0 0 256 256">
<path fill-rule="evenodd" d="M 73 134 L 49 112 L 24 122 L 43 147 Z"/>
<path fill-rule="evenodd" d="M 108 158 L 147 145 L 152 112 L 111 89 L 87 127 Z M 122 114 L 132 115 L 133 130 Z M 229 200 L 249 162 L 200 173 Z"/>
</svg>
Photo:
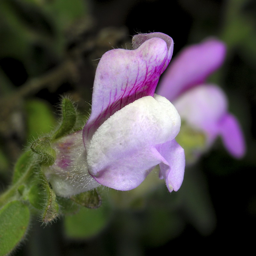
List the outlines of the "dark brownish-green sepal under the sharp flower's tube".
<svg viewBox="0 0 256 256">
<path fill-rule="evenodd" d="M 70 199 L 72 199 L 77 204 L 90 209 L 98 208 L 101 205 L 101 197 L 96 189 L 71 196 Z"/>
</svg>

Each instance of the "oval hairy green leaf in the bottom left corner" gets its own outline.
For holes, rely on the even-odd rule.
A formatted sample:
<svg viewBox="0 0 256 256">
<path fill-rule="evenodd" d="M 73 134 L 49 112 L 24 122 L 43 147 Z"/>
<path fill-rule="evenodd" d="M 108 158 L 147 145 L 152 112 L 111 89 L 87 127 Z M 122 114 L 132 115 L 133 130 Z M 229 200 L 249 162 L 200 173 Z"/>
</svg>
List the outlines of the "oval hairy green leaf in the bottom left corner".
<svg viewBox="0 0 256 256">
<path fill-rule="evenodd" d="M 11 252 L 25 236 L 29 223 L 28 206 L 12 201 L 0 209 L 0 256 Z"/>
</svg>

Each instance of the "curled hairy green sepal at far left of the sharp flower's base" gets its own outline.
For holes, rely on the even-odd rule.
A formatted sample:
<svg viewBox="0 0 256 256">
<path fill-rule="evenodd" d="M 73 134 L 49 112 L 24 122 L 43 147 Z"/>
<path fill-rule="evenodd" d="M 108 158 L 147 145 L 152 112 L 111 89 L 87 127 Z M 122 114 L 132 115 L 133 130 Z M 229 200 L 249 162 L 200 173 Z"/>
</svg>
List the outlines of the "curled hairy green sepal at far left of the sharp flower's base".
<svg viewBox="0 0 256 256">
<path fill-rule="evenodd" d="M 56 152 L 51 147 L 51 138 L 44 137 L 37 139 L 31 143 L 31 150 L 40 155 L 41 163 L 44 165 L 52 165 L 56 160 Z"/>
</svg>

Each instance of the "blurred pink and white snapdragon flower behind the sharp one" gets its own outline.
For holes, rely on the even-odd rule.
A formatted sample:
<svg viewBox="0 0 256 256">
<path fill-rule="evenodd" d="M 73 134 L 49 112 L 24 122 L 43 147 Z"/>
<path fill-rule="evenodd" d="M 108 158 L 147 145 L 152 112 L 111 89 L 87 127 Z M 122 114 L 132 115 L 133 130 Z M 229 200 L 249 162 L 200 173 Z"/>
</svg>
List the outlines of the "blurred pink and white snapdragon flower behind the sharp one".
<svg viewBox="0 0 256 256">
<path fill-rule="evenodd" d="M 223 90 L 205 82 L 222 65 L 225 55 L 225 44 L 212 38 L 185 48 L 166 70 L 157 93 L 172 101 L 181 121 L 204 133 L 204 150 L 220 136 L 228 152 L 240 158 L 245 152 L 240 125 L 228 112 Z"/>
</svg>

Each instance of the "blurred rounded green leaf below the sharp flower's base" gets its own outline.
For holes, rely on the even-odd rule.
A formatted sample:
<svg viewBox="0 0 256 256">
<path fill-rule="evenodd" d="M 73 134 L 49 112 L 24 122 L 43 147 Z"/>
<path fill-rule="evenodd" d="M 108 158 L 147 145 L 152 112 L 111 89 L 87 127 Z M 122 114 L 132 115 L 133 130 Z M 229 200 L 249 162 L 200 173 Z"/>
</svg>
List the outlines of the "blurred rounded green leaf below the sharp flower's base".
<svg viewBox="0 0 256 256">
<path fill-rule="evenodd" d="M 65 217 L 66 235 L 74 239 L 97 235 L 107 226 L 111 212 L 107 202 L 104 202 L 104 205 L 97 209 L 81 207 L 76 215 Z"/>
</svg>

